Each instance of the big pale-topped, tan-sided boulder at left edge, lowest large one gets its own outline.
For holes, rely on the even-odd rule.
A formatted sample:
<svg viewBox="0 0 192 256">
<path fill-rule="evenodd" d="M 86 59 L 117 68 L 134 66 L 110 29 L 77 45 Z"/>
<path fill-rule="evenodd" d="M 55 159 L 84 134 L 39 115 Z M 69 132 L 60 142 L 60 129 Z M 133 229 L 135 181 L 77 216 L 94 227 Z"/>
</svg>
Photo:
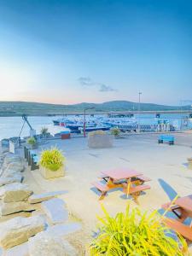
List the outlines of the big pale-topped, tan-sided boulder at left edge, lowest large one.
<svg viewBox="0 0 192 256">
<path fill-rule="evenodd" d="M 0 245 L 5 249 L 17 246 L 44 228 L 45 219 L 42 216 L 9 219 L 0 224 Z"/>
</svg>

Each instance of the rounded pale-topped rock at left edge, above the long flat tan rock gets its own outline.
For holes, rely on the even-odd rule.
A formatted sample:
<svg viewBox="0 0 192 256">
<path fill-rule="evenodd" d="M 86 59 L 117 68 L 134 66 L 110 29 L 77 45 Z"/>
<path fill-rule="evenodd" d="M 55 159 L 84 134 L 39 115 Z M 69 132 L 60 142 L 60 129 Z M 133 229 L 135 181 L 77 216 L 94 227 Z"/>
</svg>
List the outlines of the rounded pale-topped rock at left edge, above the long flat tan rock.
<svg viewBox="0 0 192 256">
<path fill-rule="evenodd" d="M 26 184 L 12 183 L 3 186 L 0 195 L 3 202 L 26 201 L 32 195 L 32 190 Z"/>
</svg>

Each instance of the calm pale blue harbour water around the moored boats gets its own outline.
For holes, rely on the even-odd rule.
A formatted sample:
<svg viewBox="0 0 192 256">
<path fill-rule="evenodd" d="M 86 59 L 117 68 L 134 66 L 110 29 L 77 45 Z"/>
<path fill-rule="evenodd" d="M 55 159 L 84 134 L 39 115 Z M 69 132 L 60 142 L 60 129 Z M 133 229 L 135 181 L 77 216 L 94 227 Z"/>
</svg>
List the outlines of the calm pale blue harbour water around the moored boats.
<svg viewBox="0 0 192 256">
<path fill-rule="evenodd" d="M 48 116 L 40 116 L 40 117 L 28 117 L 32 128 L 39 133 L 43 126 L 48 127 L 49 132 L 51 134 L 55 134 L 57 132 L 63 131 L 62 127 L 54 126 L 52 123 L 53 119 L 57 119 L 59 117 L 48 117 Z M 136 115 L 137 119 L 137 115 Z M 153 125 L 157 122 L 157 119 L 154 118 L 154 115 L 141 115 L 141 124 L 144 125 Z M 170 123 L 180 127 L 181 124 L 181 116 L 176 114 L 164 114 L 160 116 L 160 119 L 169 119 Z M 185 117 L 183 116 L 183 120 Z M 9 138 L 9 137 L 18 137 L 20 134 L 20 129 L 23 125 L 23 120 L 21 117 L 0 117 L 0 139 Z M 192 124 L 189 124 L 192 127 Z M 29 136 L 29 127 L 27 124 L 24 125 L 24 129 L 21 133 L 21 137 Z"/>
</svg>

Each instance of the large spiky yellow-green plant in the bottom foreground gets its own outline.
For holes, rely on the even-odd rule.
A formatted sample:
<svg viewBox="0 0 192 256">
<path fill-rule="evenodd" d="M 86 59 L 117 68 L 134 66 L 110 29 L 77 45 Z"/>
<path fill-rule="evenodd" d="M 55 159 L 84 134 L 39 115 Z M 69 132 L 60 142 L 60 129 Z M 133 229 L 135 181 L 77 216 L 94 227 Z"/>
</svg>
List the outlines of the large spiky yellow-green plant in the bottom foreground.
<svg viewBox="0 0 192 256">
<path fill-rule="evenodd" d="M 160 221 L 160 215 L 132 211 L 128 206 L 125 213 L 111 217 L 102 207 L 104 218 L 98 218 L 99 233 L 90 245 L 90 255 L 105 256 L 181 256 L 187 248 L 183 237 L 174 240 L 171 231 Z"/>
</svg>

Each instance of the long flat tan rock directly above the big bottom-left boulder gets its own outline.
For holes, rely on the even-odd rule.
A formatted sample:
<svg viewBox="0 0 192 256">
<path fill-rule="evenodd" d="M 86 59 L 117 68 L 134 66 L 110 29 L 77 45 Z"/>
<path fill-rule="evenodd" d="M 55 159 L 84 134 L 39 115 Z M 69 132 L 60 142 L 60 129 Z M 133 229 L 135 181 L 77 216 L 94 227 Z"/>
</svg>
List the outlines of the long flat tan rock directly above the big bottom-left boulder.
<svg viewBox="0 0 192 256">
<path fill-rule="evenodd" d="M 5 216 L 15 212 L 29 212 L 35 210 L 36 207 L 30 205 L 27 201 L 16 201 L 9 203 L 0 203 L 0 215 Z"/>
</svg>

